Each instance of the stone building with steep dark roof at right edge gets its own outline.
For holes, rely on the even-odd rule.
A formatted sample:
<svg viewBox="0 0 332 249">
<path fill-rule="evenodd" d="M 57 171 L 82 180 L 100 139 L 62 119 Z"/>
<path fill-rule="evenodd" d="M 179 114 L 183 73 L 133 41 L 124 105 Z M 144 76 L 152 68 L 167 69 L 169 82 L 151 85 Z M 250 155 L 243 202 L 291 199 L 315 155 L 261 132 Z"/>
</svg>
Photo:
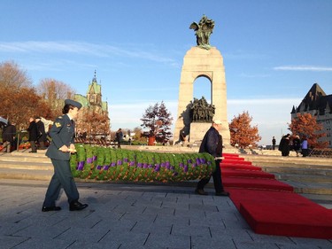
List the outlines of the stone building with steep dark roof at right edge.
<svg viewBox="0 0 332 249">
<path fill-rule="evenodd" d="M 327 95 L 318 83 L 314 83 L 300 105 L 293 106 L 291 119 L 296 118 L 297 113 L 310 113 L 316 117 L 317 123 L 323 126 L 322 132 L 326 133 L 321 142 L 327 141 L 332 148 L 332 94 Z"/>
</svg>

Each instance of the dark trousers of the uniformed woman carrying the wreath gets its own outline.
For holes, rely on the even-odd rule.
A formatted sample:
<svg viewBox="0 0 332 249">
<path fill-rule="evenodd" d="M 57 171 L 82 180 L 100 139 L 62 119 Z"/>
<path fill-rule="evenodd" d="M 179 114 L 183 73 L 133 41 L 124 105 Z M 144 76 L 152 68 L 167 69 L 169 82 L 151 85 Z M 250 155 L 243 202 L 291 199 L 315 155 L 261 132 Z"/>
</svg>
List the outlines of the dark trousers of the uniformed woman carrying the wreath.
<svg viewBox="0 0 332 249">
<path fill-rule="evenodd" d="M 66 192 L 68 202 L 79 199 L 76 183 L 70 170 L 68 160 L 51 160 L 54 166 L 54 175 L 50 179 L 49 188 L 46 191 L 45 200 L 42 206 L 55 206 L 61 187 Z"/>
</svg>

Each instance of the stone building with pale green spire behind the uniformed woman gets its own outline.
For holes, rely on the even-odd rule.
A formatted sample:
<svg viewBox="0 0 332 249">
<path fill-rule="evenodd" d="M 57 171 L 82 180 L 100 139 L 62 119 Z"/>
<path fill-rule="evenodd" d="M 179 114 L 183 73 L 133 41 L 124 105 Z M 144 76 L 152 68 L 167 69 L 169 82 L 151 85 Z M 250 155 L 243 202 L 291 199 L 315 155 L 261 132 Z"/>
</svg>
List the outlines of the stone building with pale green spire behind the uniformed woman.
<svg viewBox="0 0 332 249">
<path fill-rule="evenodd" d="M 102 86 L 97 83 L 96 71 L 89 82 L 87 96 L 75 94 L 74 99 L 82 107 L 76 121 L 76 132 L 90 136 L 105 136 L 110 133 L 108 104 L 102 99 Z"/>
</svg>

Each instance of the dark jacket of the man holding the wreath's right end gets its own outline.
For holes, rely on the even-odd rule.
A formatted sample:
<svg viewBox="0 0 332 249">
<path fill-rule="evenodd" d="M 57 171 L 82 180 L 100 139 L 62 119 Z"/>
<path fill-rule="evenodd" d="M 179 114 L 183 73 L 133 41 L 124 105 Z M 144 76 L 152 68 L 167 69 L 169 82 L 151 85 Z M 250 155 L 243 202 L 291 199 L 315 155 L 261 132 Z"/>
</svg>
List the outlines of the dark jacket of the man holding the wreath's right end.
<svg viewBox="0 0 332 249">
<path fill-rule="evenodd" d="M 209 128 L 209 130 L 205 133 L 202 144 L 199 147 L 199 152 L 207 152 L 211 154 L 213 157 L 220 156 L 221 152 L 217 153 L 217 147 L 222 148 L 222 139 L 218 132 L 218 130 L 214 127 Z M 220 144 L 220 146 L 218 146 Z"/>
</svg>

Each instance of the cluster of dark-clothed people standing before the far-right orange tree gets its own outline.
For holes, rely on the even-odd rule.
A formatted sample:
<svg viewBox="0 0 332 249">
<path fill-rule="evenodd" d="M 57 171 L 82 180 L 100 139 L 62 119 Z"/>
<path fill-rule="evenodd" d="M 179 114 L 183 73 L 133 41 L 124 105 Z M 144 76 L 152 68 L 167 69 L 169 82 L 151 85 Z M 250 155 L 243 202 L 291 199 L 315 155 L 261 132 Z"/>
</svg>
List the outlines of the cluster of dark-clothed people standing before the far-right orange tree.
<svg viewBox="0 0 332 249">
<path fill-rule="evenodd" d="M 288 157 L 290 155 L 290 151 L 295 151 L 297 153 L 297 157 L 302 154 L 303 157 L 308 156 L 309 154 L 309 147 L 308 147 L 308 140 L 306 136 L 300 136 L 290 134 L 286 134 L 282 136 L 282 139 L 279 143 L 278 150 L 282 152 L 283 157 Z"/>
</svg>

